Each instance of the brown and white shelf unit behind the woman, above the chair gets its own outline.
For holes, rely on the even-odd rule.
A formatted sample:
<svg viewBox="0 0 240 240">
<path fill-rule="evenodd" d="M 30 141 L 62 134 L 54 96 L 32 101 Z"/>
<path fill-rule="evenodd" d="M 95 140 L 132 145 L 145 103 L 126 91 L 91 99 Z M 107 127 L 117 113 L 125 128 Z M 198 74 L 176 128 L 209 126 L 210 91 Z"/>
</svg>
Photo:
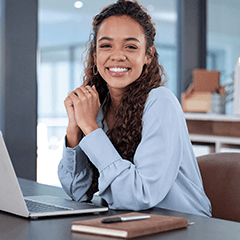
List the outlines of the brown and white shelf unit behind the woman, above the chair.
<svg viewBox="0 0 240 240">
<path fill-rule="evenodd" d="M 212 146 L 211 152 L 220 152 L 223 147 L 240 150 L 240 116 L 201 113 L 184 115 L 193 144 Z"/>
</svg>

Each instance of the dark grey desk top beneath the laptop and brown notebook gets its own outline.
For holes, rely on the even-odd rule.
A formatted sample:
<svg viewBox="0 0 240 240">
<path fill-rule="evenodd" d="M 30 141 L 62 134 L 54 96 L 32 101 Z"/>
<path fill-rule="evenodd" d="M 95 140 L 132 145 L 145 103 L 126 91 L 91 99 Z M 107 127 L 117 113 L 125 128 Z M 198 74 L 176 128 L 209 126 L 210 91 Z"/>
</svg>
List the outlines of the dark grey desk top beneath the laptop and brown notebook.
<svg viewBox="0 0 240 240">
<path fill-rule="evenodd" d="M 29 195 L 55 195 L 66 197 L 62 189 L 38 184 L 33 181 L 19 179 L 23 194 Z M 100 199 L 95 197 L 94 202 L 99 203 Z M 189 221 L 195 222 L 187 229 L 175 230 L 166 233 L 149 235 L 138 238 L 139 240 L 237 240 L 240 239 L 240 223 L 224 221 L 214 218 L 206 218 L 191 214 L 168 211 L 160 208 L 143 211 L 151 214 L 161 214 L 168 216 L 186 217 Z M 109 210 L 106 213 L 98 215 L 85 214 L 65 217 L 42 218 L 38 220 L 29 220 L 14 216 L 8 213 L 0 212 L 0 240 L 116 240 L 116 238 L 100 237 L 86 234 L 72 233 L 70 231 L 71 222 L 90 219 L 94 217 L 111 216 L 126 213 L 126 211 Z"/>
</svg>

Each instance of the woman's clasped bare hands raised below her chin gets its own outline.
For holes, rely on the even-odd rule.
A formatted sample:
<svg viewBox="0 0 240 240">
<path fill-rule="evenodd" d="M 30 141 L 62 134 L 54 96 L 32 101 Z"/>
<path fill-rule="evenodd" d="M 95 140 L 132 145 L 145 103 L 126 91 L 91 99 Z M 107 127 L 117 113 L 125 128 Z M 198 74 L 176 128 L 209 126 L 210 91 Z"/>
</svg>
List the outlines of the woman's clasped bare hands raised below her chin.
<svg viewBox="0 0 240 240">
<path fill-rule="evenodd" d="M 96 118 L 100 109 L 99 95 L 95 86 L 80 86 L 64 100 L 68 115 L 67 142 L 75 147 L 81 139 L 81 131 L 88 135 L 99 128 Z"/>
</svg>

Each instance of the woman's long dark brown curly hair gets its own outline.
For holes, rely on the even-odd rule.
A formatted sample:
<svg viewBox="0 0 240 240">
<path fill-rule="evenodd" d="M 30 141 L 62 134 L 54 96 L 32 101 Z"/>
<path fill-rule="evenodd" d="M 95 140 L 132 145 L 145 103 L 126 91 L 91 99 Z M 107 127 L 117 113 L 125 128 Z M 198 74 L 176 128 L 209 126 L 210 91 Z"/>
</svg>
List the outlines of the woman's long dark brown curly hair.
<svg viewBox="0 0 240 240">
<path fill-rule="evenodd" d="M 158 53 L 152 54 L 150 47 L 154 46 L 156 30 L 151 17 L 137 1 L 118 0 L 104 8 L 93 19 L 92 40 L 89 40 L 84 83 L 95 85 L 103 104 L 104 119 L 106 119 L 111 104 L 108 86 L 99 73 L 96 74 L 94 54 L 96 53 L 97 33 L 101 23 L 110 16 L 129 16 L 138 22 L 146 38 L 146 54 L 151 57 L 151 63 L 144 65 L 138 79 L 131 83 L 124 92 L 121 104 L 115 113 L 114 126 L 108 130 L 107 135 L 122 158 L 133 162 L 133 156 L 142 138 L 142 115 L 148 93 L 163 85 L 165 76 L 163 67 L 158 63 Z M 103 119 L 103 122 L 104 122 Z"/>
</svg>

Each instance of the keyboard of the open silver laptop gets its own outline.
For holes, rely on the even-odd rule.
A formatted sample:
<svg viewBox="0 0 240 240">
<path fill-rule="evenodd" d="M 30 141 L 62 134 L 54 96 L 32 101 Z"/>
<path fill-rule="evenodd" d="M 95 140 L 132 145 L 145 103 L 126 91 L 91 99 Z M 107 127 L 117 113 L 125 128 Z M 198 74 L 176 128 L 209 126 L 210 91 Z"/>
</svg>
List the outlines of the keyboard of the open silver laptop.
<svg viewBox="0 0 240 240">
<path fill-rule="evenodd" d="M 66 210 L 72 210 L 72 208 L 62 207 L 62 206 L 56 206 L 41 202 L 36 202 L 33 200 L 25 199 L 27 208 L 29 212 L 56 212 L 56 211 L 66 211 Z"/>
</svg>

